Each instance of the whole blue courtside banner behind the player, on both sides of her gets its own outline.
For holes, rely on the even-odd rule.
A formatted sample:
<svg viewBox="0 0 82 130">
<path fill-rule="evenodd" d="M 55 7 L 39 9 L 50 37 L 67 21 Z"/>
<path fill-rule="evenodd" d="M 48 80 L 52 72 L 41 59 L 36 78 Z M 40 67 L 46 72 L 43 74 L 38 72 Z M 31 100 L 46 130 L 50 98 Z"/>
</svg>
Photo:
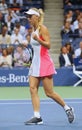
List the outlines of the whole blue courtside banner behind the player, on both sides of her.
<svg viewBox="0 0 82 130">
<path fill-rule="evenodd" d="M 72 67 L 56 69 L 53 75 L 54 86 L 73 86 L 79 78 L 73 74 Z M 0 68 L 0 87 L 24 87 L 29 86 L 29 68 Z M 82 83 L 79 84 L 82 86 Z M 42 82 L 40 83 L 42 86 Z"/>
</svg>

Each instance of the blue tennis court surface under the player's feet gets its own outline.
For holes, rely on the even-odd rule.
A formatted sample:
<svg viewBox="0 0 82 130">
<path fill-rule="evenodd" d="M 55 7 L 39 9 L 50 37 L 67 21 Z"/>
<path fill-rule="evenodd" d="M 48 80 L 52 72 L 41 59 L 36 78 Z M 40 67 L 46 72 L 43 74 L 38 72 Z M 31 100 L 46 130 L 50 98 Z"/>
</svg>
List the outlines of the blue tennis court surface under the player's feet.
<svg viewBox="0 0 82 130">
<path fill-rule="evenodd" d="M 53 100 L 41 100 L 43 125 L 24 125 L 33 116 L 30 100 L 0 100 L 0 130 L 82 130 L 82 99 L 65 99 L 75 109 L 76 119 L 69 124 L 67 116 Z"/>
</svg>

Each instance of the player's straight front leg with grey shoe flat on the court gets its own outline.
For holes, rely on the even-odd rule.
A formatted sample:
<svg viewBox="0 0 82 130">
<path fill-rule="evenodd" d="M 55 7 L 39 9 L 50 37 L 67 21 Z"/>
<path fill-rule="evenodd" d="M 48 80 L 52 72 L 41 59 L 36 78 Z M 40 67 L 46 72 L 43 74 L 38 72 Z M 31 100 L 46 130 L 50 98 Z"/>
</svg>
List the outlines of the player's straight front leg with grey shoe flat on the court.
<svg viewBox="0 0 82 130">
<path fill-rule="evenodd" d="M 30 76 L 29 83 L 30 83 L 30 93 L 34 110 L 34 116 L 30 120 L 26 121 L 25 125 L 43 124 L 42 118 L 40 116 L 40 100 L 38 96 L 38 87 L 40 83 L 40 78 Z"/>
</svg>

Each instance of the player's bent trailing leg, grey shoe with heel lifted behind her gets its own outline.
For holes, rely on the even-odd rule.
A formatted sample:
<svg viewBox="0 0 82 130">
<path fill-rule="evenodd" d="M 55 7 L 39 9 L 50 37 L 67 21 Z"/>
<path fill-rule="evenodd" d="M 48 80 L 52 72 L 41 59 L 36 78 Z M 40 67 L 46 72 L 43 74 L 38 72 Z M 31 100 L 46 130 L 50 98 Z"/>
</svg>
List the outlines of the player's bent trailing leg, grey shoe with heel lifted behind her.
<svg viewBox="0 0 82 130">
<path fill-rule="evenodd" d="M 56 92 L 53 91 L 52 76 L 44 77 L 44 78 L 42 78 L 42 81 L 43 81 L 43 86 L 44 86 L 46 95 L 48 97 L 52 98 L 54 101 L 56 101 L 58 104 L 60 104 L 64 108 L 64 110 L 67 114 L 69 123 L 72 123 L 74 120 L 73 109 L 71 107 L 69 107 Z"/>
</svg>

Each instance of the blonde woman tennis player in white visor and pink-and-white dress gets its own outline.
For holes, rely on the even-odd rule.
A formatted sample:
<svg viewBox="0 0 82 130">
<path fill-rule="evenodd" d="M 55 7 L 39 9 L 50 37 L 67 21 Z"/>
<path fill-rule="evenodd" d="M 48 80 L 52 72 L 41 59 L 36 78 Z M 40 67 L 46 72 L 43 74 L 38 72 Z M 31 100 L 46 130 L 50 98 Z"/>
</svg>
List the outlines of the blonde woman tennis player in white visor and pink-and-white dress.
<svg viewBox="0 0 82 130">
<path fill-rule="evenodd" d="M 30 120 L 25 121 L 25 125 L 43 124 L 38 96 L 38 88 L 41 80 L 45 94 L 64 108 L 69 123 L 72 123 L 74 120 L 72 107 L 69 107 L 53 91 L 53 74 L 56 74 L 56 70 L 48 52 L 50 49 L 50 36 L 47 27 L 43 25 L 44 13 L 42 9 L 31 8 L 26 14 L 28 21 L 33 26 L 30 43 L 33 47 L 34 55 L 29 70 L 29 84 L 34 115 Z"/>
</svg>

